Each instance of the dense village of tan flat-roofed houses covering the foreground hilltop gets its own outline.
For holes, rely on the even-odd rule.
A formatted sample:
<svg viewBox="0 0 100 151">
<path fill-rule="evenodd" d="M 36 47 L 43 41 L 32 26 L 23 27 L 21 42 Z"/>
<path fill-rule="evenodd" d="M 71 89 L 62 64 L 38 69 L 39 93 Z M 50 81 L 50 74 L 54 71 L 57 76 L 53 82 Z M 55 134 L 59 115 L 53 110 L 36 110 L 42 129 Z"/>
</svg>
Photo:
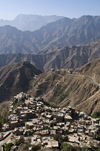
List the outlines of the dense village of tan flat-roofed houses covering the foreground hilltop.
<svg viewBox="0 0 100 151">
<path fill-rule="evenodd" d="M 42 98 L 21 92 L 9 106 L 8 123 L 2 126 L 0 143 L 3 142 L 1 147 L 13 143 L 12 150 L 16 150 L 15 141 L 24 136 L 25 142 L 30 140 L 30 151 L 32 145 L 40 145 L 43 150 L 59 148 L 62 142 L 91 149 L 91 142 L 100 145 L 99 132 L 97 119 L 84 112 L 71 106 L 53 108 Z"/>
</svg>

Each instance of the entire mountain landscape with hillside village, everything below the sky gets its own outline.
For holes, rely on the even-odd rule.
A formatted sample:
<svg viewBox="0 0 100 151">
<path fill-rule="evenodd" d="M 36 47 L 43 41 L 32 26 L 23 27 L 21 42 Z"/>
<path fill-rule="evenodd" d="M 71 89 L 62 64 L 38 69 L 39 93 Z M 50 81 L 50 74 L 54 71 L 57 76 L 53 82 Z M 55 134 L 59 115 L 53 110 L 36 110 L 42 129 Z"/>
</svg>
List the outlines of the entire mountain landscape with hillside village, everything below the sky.
<svg viewBox="0 0 100 151">
<path fill-rule="evenodd" d="M 0 151 L 99 151 L 100 16 L 0 20 L 0 111 Z"/>
</svg>

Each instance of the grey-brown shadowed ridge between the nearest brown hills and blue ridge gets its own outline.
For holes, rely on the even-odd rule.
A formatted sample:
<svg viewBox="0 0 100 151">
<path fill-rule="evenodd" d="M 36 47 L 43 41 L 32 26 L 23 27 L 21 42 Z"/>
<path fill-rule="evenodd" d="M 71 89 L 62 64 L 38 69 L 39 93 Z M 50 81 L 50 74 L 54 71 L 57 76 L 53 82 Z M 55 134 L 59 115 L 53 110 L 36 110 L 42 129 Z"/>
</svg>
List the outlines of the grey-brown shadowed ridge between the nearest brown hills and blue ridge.
<svg viewBox="0 0 100 151">
<path fill-rule="evenodd" d="M 72 46 L 41 51 L 34 54 L 1 54 L 0 67 L 28 61 L 42 71 L 49 71 L 51 68 L 66 69 L 79 68 L 84 64 L 100 58 L 100 41 L 93 42 L 88 46 Z"/>
</svg>

